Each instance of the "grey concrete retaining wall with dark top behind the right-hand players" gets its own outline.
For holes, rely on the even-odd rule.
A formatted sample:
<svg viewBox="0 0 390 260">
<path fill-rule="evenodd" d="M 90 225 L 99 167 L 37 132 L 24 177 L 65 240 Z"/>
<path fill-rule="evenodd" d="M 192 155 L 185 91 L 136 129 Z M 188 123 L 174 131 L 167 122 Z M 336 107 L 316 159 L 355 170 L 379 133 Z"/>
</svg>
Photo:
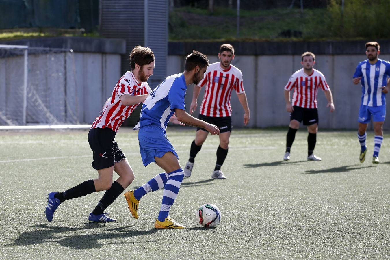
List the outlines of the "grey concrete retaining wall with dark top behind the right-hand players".
<svg viewBox="0 0 390 260">
<path fill-rule="evenodd" d="M 185 57 L 191 53 L 191 50 L 199 50 L 206 54 L 210 63 L 218 61 L 218 50 L 222 43 L 175 42 L 170 44 L 168 74 L 183 72 Z M 241 69 L 243 73 L 244 88 L 251 111 L 248 126 L 271 127 L 289 124 L 289 113 L 285 111 L 284 86 L 291 74 L 302 68 L 301 53 L 314 49 L 313 52 L 316 54 L 314 68 L 325 75 L 336 107 L 333 113 L 329 112 L 329 108 L 326 108 L 327 100 L 320 89 L 317 97 L 320 127 L 356 129 L 362 91 L 360 85 L 353 85 L 352 76 L 357 64 L 367 58 L 364 43 L 365 41 L 279 42 L 275 43 L 272 48 L 271 42 L 233 42 L 236 57 L 232 64 Z M 379 43 L 381 44 L 379 58 L 390 60 L 390 41 Z M 248 55 L 250 53 L 252 55 Z M 286 54 L 277 55 L 277 53 Z M 186 93 L 187 110 L 191 104 L 192 91 L 193 87 L 190 86 Z M 203 93 L 202 90 L 198 98 L 199 105 Z M 234 92 L 232 92 L 231 105 L 233 126 L 243 127 L 244 111 Z M 199 113 L 199 108 L 196 113 Z M 387 106 L 387 113 L 390 113 L 390 106 Z M 390 129 L 390 120 L 385 121 L 384 128 Z"/>
</svg>

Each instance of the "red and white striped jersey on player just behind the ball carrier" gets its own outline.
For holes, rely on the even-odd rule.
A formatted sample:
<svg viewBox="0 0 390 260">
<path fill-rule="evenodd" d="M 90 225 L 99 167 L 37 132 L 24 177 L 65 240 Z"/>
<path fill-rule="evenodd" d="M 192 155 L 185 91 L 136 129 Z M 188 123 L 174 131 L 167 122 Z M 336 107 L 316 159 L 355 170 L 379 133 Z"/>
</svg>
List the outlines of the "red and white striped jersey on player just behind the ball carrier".
<svg viewBox="0 0 390 260">
<path fill-rule="evenodd" d="M 244 93 L 243 74 L 230 65 L 229 69 L 223 70 L 220 62 L 215 62 L 207 68 L 205 76 L 198 87 L 206 86 L 200 114 L 209 117 L 228 117 L 232 115 L 230 97 L 232 90 L 237 94 Z"/>
</svg>

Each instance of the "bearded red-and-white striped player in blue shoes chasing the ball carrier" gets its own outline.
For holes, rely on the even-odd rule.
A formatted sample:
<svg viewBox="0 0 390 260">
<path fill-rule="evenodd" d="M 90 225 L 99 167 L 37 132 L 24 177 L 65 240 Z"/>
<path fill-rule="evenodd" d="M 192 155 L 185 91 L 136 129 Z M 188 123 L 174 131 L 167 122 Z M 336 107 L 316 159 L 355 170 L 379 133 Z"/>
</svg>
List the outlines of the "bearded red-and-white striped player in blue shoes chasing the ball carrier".
<svg viewBox="0 0 390 260">
<path fill-rule="evenodd" d="M 151 92 L 146 82 L 154 69 L 154 54 L 151 49 L 136 46 L 130 54 L 130 67 L 131 71 L 126 72 L 115 85 L 111 97 L 107 99 L 89 130 L 88 142 L 93 151 L 92 167 L 97 170 L 98 178 L 86 180 L 63 192 L 49 193 L 45 209 L 49 222 L 57 207 L 65 200 L 104 190 L 105 194 L 89 214 L 88 220 L 96 223 L 116 221 L 108 217 L 104 210 L 133 182 L 134 173 L 114 138 L 123 121 Z M 172 117 L 171 122 L 178 123 L 175 119 L 175 116 Z M 112 182 L 114 171 L 119 178 Z"/>
</svg>

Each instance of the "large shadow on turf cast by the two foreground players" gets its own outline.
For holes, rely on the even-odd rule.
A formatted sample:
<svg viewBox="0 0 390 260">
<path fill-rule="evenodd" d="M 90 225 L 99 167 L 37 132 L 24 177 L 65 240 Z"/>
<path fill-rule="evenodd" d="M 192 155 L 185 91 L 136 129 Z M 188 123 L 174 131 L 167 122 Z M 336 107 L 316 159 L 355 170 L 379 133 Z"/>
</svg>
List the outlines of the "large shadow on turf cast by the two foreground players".
<svg viewBox="0 0 390 260">
<path fill-rule="evenodd" d="M 45 242 L 57 242 L 61 246 L 66 246 L 72 249 L 92 249 L 92 248 L 101 248 L 105 244 L 127 244 L 126 242 L 108 242 L 105 243 L 107 239 L 121 239 L 121 238 L 130 238 L 143 235 L 151 235 L 152 233 L 157 232 L 156 228 L 151 230 L 141 231 L 141 230 L 128 230 L 127 228 L 131 226 L 124 226 L 119 228 L 111 228 L 104 230 L 102 233 L 94 234 L 80 234 L 80 235 L 60 235 L 64 232 L 77 232 L 80 233 L 81 230 L 89 230 L 94 228 L 104 227 L 105 224 L 97 223 L 85 223 L 85 227 L 66 227 L 66 226 L 51 226 L 49 224 L 41 224 L 31 226 L 31 228 L 40 228 L 39 230 L 23 232 L 19 235 L 19 238 L 16 239 L 12 244 L 7 246 L 28 246 L 35 244 L 42 244 Z M 113 232 L 113 233 L 110 233 Z M 57 234 L 57 235 L 56 235 Z M 139 242 L 128 242 L 128 243 L 144 243 L 144 242 L 155 242 L 156 240 L 150 241 L 139 241 Z"/>
</svg>

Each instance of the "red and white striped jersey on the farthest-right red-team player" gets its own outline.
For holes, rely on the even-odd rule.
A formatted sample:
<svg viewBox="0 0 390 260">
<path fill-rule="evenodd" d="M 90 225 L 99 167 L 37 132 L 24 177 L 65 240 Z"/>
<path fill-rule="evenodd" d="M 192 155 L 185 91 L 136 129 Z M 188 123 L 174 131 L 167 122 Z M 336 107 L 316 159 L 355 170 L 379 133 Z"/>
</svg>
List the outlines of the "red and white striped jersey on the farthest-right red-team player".
<svg viewBox="0 0 390 260">
<path fill-rule="evenodd" d="M 303 72 L 303 69 L 300 69 L 291 75 L 284 89 L 290 91 L 294 88 L 293 101 L 291 102 L 293 106 L 317 108 L 317 92 L 319 87 L 325 91 L 329 90 L 324 74 L 313 69 L 313 73 L 307 75 Z"/>
</svg>

